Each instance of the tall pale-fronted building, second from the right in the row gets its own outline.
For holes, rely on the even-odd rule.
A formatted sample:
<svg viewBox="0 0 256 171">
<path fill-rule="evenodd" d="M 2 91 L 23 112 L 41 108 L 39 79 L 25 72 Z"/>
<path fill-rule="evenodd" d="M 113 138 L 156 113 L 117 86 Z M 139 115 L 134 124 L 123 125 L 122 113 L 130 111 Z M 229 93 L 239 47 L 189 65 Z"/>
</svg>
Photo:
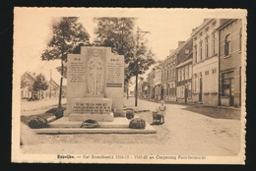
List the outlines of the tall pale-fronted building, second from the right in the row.
<svg viewBox="0 0 256 171">
<path fill-rule="evenodd" d="M 226 19 L 206 19 L 193 29 L 193 102 L 219 104 L 219 33 Z"/>
</svg>

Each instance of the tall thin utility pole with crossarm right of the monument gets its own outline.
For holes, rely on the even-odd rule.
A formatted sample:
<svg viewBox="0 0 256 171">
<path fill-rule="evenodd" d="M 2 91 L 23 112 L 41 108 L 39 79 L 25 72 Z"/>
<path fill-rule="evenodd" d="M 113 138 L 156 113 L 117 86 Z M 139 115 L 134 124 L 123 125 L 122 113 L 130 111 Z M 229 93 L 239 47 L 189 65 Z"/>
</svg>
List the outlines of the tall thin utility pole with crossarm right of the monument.
<svg viewBox="0 0 256 171">
<path fill-rule="evenodd" d="M 138 73 L 139 73 L 138 59 L 139 59 L 139 56 L 137 56 L 137 52 L 138 52 L 139 44 L 140 44 L 140 36 L 143 37 L 146 33 L 150 33 L 150 31 L 143 31 L 143 30 L 140 30 L 140 28 L 138 27 L 136 33 L 137 33 L 137 37 L 136 37 L 137 45 L 136 45 L 136 54 L 135 54 L 135 56 L 136 56 L 135 106 L 138 105 Z M 143 33 L 143 34 L 140 35 L 141 33 Z"/>
</svg>

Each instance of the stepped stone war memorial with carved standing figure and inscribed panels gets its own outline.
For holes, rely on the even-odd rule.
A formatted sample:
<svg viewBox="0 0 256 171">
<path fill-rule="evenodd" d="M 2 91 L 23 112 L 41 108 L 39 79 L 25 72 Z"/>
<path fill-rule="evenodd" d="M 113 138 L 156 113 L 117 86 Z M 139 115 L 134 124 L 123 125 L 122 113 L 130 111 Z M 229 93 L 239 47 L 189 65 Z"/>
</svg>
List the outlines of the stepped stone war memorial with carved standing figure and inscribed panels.
<svg viewBox="0 0 256 171">
<path fill-rule="evenodd" d="M 113 121 L 123 111 L 124 57 L 110 47 L 81 47 L 68 54 L 67 109 L 69 121 Z"/>
</svg>

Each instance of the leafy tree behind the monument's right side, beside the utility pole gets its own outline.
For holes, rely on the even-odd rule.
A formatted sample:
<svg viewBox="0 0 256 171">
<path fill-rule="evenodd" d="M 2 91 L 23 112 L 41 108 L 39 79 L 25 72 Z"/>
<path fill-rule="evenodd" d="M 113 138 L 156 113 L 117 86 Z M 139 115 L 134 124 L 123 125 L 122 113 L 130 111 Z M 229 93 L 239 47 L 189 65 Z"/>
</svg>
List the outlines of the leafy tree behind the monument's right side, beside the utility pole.
<svg viewBox="0 0 256 171">
<path fill-rule="evenodd" d="M 124 90 L 128 94 L 130 79 L 136 76 L 136 72 L 144 74 L 155 63 L 155 54 L 148 50 L 145 43 L 137 44 L 136 38 L 142 37 L 134 35 L 134 18 L 96 18 L 96 21 L 95 44 L 111 47 L 113 53 L 124 55 L 128 65 L 125 69 Z"/>
</svg>

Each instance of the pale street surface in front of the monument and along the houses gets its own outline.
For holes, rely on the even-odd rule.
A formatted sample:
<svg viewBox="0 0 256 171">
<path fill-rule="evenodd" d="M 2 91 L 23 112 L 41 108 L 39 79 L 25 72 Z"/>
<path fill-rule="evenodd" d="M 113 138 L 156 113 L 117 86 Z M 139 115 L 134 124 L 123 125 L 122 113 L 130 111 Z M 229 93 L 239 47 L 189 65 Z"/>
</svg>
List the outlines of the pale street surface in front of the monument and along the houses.
<svg viewBox="0 0 256 171">
<path fill-rule="evenodd" d="M 160 105 L 160 103 L 144 100 L 139 100 L 138 104 L 138 108 L 150 110 L 155 110 Z M 125 100 L 125 105 L 133 106 L 134 98 Z M 39 135 L 38 142 L 23 146 L 23 151 L 166 155 L 236 155 L 239 153 L 241 139 L 239 120 L 214 119 L 185 110 L 185 105 L 166 104 L 166 107 L 165 124 L 154 126 L 158 131 L 157 134 Z M 152 116 L 152 113 L 138 115 Z M 152 118 L 151 116 L 148 118 Z"/>
</svg>

